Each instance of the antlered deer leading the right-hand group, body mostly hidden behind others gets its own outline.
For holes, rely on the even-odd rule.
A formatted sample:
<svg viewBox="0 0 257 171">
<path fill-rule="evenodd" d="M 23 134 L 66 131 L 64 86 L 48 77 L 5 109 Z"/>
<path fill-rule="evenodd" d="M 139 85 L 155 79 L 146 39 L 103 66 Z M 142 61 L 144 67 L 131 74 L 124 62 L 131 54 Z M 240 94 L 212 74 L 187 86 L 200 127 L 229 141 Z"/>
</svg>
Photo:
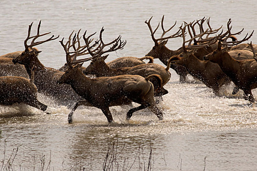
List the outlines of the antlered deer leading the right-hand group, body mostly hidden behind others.
<svg viewBox="0 0 257 171">
<path fill-rule="evenodd" d="M 180 31 L 178 31 L 177 33 L 175 33 L 171 36 L 164 37 L 164 35 L 176 25 L 176 22 L 169 29 L 165 30 L 164 29 L 164 23 L 163 23 L 164 22 L 164 16 L 163 16 L 163 18 L 162 18 L 163 34 L 162 34 L 161 38 L 156 39 L 154 37 L 154 34 L 157 31 L 157 29 L 159 28 L 160 22 L 159 22 L 158 26 L 156 27 L 156 29 L 153 31 L 152 26 L 150 24 L 150 21 L 152 20 L 152 18 L 153 17 L 151 17 L 149 19 L 149 21 L 145 21 L 145 23 L 148 25 L 148 28 L 151 32 L 151 37 L 152 37 L 152 40 L 154 41 L 154 46 L 153 46 L 152 50 L 150 50 L 145 56 L 152 56 L 153 58 L 158 58 L 163 64 L 168 66 L 168 59 L 171 56 L 178 55 L 178 54 L 182 53 L 183 48 L 181 47 L 177 50 L 170 50 L 165 45 L 168 42 L 168 39 L 181 37 L 181 34 L 180 34 Z M 180 82 L 185 83 L 186 82 L 186 77 L 187 77 L 187 74 L 188 74 L 186 68 L 183 67 L 183 66 L 178 66 L 178 65 L 174 65 L 174 64 L 171 64 L 170 67 L 172 69 L 174 69 L 176 71 L 176 73 L 180 76 Z"/>
</svg>

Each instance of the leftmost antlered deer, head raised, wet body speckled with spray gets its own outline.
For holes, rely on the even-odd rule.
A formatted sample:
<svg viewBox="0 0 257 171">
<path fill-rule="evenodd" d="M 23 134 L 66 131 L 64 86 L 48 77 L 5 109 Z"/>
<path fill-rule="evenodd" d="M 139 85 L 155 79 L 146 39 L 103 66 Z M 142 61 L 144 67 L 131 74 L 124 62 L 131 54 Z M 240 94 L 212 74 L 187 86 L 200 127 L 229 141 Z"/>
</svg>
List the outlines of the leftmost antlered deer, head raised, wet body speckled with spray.
<svg viewBox="0 0 257 171">
<path fill-rule="evenodd" d="M 40 34 L 40 21 L 37 27 L 37 34 L 30 36 L 32 24 L 33 22 L 28 26 L 28 35 L 24 40 L 25 50 L 16 59 L 13 59 L 12 62 L 14 64 L 19 63 L 24 65 L 29 77 L 31 77 L 31 70 L 32 67 L 34 67 L 34 84 L 37 86 L 39 93 L 47 95 L 48 97 L 51 97 L 57 102 L 60 102 L 62 105 L 66 106 L 70 105 L 70 101 L 81 100 L 82 98 L 71 88 L 70 85 L 58 85 L 56 83 L 56 81 L 61 78 L 64 72 L 54 68 L 46 67 L 38 59 L 38 55 L 41 51 L 38 51 L 34 46 L 56 40 L 59 38 L 59 36 L 54 37 L 54 35 L 52 35 L 46 40 L 35 42 L 38 38 L 42 38 L 51 32 Z M 30 44 L 28 44 L 29 40 L 31 40 Z M 83 47 L 80 49 L 82 53 Z"/>
</svg>

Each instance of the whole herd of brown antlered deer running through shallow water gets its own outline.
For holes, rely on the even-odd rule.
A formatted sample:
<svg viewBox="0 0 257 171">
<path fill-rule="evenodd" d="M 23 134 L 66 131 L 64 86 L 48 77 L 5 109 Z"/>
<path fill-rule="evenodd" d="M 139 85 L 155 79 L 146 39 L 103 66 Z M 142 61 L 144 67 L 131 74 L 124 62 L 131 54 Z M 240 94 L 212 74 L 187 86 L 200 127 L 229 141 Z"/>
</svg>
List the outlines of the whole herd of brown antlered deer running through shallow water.
<svg viewBox="0 0 257 171">
<path fill-rule="evenodd" d="M 96 32 L 88 36 L 85 31 L 80 35 L 80 29 L 77 33 L 72 31 L 67 42 L 64 42 L 64 38 L 59 41 L 67 61 L 60 69 L 44 66 L 38 59 L 41 51 L 35 47 L 57 40 L 59 36 L 53 35 L 37 42 L 39 37 L 42 39 L 50 32 L 40 33 L 40 21 L 37 34 L 31 36 L 32 22 L 24 40 L 24 51 L 0 56 L 0 105 L 24 103 L 46 111 L 47 106 L 37 99 L 39 92 L 67 106 L 67 102 L 75 103 L 68 116 L 69 123 L 72 123 L 73 112 L 81 105 L 101 109 L 108 122 L 113 122 L 109 107 L 132 106 L 132 102 L 140 106 L 127 112 L 127 120 L 135 111 L 146 107 L 149 107 L 159 120 L 163 120 L 163 112 L 157 105 L 156 97 L 168 93 L 164 85 L 170 80 L 170 68 L 180 76 L 181 83 L 186 83 L 187 75 L 190 74 L 210 87 L 216 96 L 220 95 L 219 88 L 222 85 L 234 83 L 232 94 L 241 89 L 245 100 L 255 102 L 251 90 L 257 87 L 257 45 L 252 42 L 243 43 L 252 37 L 254 31 L 238 40 L 236 35 L 241 34 L 243 29 L 231 33 L 231 19 L 224 31 L 222 26 L 213 30 L 210 18 L 203 18 L 190 23 L 184 21 L 175 34 L 165 36 L 175 27 L 176 22 L 165 30 L 163 16 L 163 34 L 157 39 L 154 34 L 160 22 L 153 30 L 151 19 L 152 17 L 145 23 L 150 30 L 154 46 L 144 57 L 121 57 L 106 63 L 108 53 L 123 49 L 126 41 L 122 41 L 121 36 L 118 36 L 106 43 L 102 39 L 104 28 L 100 30 L 99 38 L 93 40 Z M 207 29 L 204 29 L 204 23 L 207 23 Z M 199 31 L 196 27 L 199 27 Z M 170 50 L 166 47 L 167 41 L 172 38 L 183 40 L 179 49 Z M 77 59 L 78 56 L 88 57 Z M 156 58 L 166 66 L 155 64 Z M 86 61 L 91 63 L 87 67 L 82 66 Z"/>
</svg>

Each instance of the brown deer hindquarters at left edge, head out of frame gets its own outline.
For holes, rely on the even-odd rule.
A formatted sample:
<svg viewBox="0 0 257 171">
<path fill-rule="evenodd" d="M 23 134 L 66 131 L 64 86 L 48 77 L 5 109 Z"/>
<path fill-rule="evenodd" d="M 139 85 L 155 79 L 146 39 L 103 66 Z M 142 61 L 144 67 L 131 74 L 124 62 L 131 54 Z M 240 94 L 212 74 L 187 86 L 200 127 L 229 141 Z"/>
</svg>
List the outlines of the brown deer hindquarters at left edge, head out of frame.
<svg viewBox="0 0 257 171">
<path fill-rule="evenodd" d="M 47 110 L 47 106 L 37 100 L 37 87 L 30 80 L 15 76 L 0 77 L 0 105 L 16 103 Z"/>
</svg>

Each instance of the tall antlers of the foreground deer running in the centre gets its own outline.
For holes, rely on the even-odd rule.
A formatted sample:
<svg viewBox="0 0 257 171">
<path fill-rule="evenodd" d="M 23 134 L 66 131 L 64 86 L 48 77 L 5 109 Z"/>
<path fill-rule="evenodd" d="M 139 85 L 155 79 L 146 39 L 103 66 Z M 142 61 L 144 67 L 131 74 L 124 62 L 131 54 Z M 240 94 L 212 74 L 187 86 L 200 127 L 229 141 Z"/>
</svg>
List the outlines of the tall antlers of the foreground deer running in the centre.
<svg viewBox="0 0 257 171">
<path fill-rule="evenodd" d="M 78 31 L 77 34 L 75 34 L 73 36 L 72 43 L 70 43 L 71 42 L 71 35 L 73 34 L 74 30 L 71 32 L 71 34 L 69 36 L 69 40 L 67 41 L 67 43 L 65 43 L 65 44 L 63 43 L 64 38 L 61 41 L 59 41 L 61 43 L 61 45 L 63 46 L 65 52 L 66 52 L 66 61 L 67 61 L 67 64 L 69 66 L 71 66 L 72 64 L 78 64 L 78 63 L 86 62 L 86 61 L 89 61 L 89 60 L 92 59 L 90 57 L 90 58 L 79 59 L 79 60 L 71 60 L 71 59 L 76 59 L 77 56 L 88 54 L 87 49 L 86 49 L 88 44 L 85 44 L 83 46 L 80 45 L 80 42 L 79 42 L 79 39 L 80 39 L 79 38 L 79 32 L 80 32 L 80 30 Z M 90 40 L 89 42 L 91 43 L 92 41 L 93 40 Z M 77 47 L 75 46 L 76 43 L 78 44 Z M 74 51 L 70 52 L 70 47 L 73 47 Z M 92 47 L 90 47 L 90 48 L 92 48 Z"/>
</svg>

